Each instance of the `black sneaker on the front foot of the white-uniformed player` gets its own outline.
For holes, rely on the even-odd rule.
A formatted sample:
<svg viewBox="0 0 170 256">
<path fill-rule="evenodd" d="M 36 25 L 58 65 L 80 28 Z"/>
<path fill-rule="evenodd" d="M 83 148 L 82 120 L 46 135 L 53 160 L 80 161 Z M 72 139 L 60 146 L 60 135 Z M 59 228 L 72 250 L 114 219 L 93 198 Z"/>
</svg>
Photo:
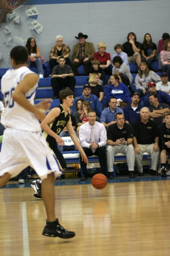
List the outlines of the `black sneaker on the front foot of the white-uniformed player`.
<svg viewBox="0 0 170 256">
<path fill-rule="evenodd" d="M 59 224 L 58 219 L 53 222 L 46 221 L 46 226 L 42 232 L 43 236 L 60 237 L 60 238 L 71 238 L 76 234 L 73 231 L 68 231 Z"/>
</svg>

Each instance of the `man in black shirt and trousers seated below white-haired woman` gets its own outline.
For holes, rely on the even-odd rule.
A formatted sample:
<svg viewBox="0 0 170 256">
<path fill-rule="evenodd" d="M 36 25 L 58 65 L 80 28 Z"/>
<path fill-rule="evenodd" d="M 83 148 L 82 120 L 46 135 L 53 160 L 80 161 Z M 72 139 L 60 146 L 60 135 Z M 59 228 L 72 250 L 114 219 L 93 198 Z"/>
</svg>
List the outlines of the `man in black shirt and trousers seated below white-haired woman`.
<svg viewBox="0 0 170 256">
<path fill-rule="evenodd" d="M 69 65 L 65 64 L 65 58 L 60 56 L 59 65 L 53 68 L 51 73 L 51 86 L 54 90 L 53 99 L 59 99 L 59 89 L 69 87 L 74 92 L 76 80 Z"/>
</svg>

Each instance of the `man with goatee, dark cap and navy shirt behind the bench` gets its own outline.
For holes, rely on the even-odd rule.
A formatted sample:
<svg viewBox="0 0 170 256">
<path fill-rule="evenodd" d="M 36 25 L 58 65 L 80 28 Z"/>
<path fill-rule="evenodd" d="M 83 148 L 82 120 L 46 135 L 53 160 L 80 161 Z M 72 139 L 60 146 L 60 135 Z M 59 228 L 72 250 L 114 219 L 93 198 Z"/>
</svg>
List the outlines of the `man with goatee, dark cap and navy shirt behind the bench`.
<svg viewBox="0 0 170 256">
<path fill-rule="evenodd" d="M 125 116 L 125 123 L 133 124 L 140 118 L 140 110 L 142 108 L 139 105 L 140 102 L 140 94 L 138 92 L 133 93 L 131 97 L 131 104 L 124 107 L 124 116 Z"/>
</svg>

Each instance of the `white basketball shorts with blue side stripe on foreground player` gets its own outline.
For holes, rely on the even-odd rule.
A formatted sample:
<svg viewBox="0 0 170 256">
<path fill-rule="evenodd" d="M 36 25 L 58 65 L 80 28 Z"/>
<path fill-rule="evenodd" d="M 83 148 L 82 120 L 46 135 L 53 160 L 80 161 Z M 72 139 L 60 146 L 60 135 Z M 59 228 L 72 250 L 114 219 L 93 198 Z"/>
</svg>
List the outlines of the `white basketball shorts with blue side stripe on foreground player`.
<svg viewBox="0 0 170 256">
<path fill-rule="evenodd" d="M 0 176 L 4 173 L 17 176 L 28 165 L 40 179 L 54 172 L 61 175 L 56 156 L 50 151 L 42 132 L 6 128 L 0 152 Z"/>
</svg>

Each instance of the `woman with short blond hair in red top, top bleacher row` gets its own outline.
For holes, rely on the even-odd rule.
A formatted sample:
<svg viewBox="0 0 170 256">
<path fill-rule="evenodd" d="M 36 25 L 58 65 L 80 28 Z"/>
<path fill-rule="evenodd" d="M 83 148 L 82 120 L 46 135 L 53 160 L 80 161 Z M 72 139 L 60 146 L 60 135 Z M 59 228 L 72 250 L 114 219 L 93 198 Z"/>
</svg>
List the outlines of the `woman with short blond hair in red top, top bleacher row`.
<svg viewBox="0 0 170 256">
<path fill-rule="evenodd" d="M 107 46 L 104 42 L 99 42 L 99 44 L 97 44 L 97 49 L 99 51 L 93 54 L 93 60 L 99 60 L 100 67 L 103 69 L 105 74 L 110 75 L 110 53 L 105 52 L 106 47 Z"/>
</svg>

